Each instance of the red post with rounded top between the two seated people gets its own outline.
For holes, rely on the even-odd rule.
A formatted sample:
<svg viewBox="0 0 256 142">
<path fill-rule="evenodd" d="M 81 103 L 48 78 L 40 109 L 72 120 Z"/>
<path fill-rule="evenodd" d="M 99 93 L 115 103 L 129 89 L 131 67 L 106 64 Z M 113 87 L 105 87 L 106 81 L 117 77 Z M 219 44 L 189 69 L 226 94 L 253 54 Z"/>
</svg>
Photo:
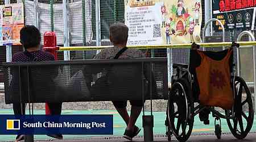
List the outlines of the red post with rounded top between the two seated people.
<svg viewBox="0 0 256 142">
<path fill-rule="evenodd" d="M 44 32 L 44 47 L 43 50 L 51 53 L 54 56 L 54 59 L 57 60 L 57 37 L 54 32 L 47 31 Z M 48 103 L 46 103 L 46 115 L 51 114 L 49 110 Z"/>
</svg>

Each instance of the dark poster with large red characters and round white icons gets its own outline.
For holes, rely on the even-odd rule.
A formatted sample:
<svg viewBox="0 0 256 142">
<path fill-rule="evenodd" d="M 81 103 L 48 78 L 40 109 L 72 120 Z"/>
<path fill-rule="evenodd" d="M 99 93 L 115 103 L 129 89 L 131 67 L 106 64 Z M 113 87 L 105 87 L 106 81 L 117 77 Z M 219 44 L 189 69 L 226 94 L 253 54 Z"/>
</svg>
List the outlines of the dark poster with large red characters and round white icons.
<svg viewBox="0 0 256 142">
<path fill-rule="evenodd" d="M 254 30 L 256 1 L 214 0 L 213 18 L 219 19 L 225 30 Z M 222 31 L 220 23 L 213 22 L 214 31 Z"/>
</svg>

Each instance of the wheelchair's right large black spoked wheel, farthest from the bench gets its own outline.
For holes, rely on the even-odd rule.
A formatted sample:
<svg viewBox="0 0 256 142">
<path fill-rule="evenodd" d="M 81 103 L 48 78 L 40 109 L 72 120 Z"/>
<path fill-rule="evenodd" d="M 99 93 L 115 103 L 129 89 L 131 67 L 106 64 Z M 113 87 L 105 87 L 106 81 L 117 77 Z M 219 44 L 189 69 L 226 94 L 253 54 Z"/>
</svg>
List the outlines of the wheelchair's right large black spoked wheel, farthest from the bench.
<svg viewBox="0 0 256 142">
<path fill-rule="evenodd" d="M 253 126 L 254 111 L 251 93 L 241 77 L 234 78 L 234 118 L 226 119 L 229 129 L 237 139 L 243 139 Z M 231 110 L 225 111 L 226 116 L 232 116 Z"/>
</svg>

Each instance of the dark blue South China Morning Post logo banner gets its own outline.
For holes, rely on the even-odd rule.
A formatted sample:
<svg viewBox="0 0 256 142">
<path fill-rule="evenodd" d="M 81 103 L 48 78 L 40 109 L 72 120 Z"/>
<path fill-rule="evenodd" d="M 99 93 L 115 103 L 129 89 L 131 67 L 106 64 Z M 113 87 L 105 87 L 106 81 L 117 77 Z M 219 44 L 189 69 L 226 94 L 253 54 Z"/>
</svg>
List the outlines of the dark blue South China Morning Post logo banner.
<svg viewBox="0 0 256 142">
<path fill-rule="evenodd" d="M 0 115 L 0 135 L 113 135 L 113 115 Z"/>
</svg>

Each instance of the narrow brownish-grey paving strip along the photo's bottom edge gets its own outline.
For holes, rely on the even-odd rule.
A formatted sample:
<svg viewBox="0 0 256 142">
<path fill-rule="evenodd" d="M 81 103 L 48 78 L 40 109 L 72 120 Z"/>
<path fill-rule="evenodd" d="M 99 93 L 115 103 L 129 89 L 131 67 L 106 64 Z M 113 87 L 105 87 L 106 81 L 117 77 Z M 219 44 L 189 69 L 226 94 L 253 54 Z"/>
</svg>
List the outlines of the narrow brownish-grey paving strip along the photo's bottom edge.
<svg viewBox="0 0 256 142">
<path fill-rule="evenodd" d="M 42 140 L 40 142 L 48 142 L 50 140 Z M 51 140 L 52 141 L 52 140 Z M 88 139 L 81 139 L 81 140 L 53 140 L 54 142 L 59 142 L 59 141 L 63 141 L 63 142 L 82 142 L 82 141 L 86 141 L 86 142 L 93 142 L 93 141 L 97 141 L 97 142 L 103 142 L 103 141 L 117 141 L 117 142 L 126 142 L 126 139 L 123 139 L 122 137 L 98 137 L 98 138 L 88 138 Z M 133 141 L 143 141 L 143 137 L 137 137 L 135 139 L 133 139 Z M 162 141 L 167 141 L 167 137 L 163 137 L 163 136 L 155 136 L 154 137 L 154 141 L 157 142 L 162 142 Z M 177 141 L 175 138 L 173 138 L 172 141 Z M 206 135 L 192 135 L 191 137 L 189 137 L 188 142 L 191 141 L 196 141 L 196 142 L 203 142 L 203 141 L 207 141 L 207 142 L 212 142 L 212 141 L 225 141 L 225 142 L 239 142 L 239 141 L 245 141 L 245 142 L 252 142 L 255 141 L 256 142 L 256 133 L 251 133 L 249 135 L 247 135 L 247 137 L 243 140 L 238 140 L 236 139 L 233 135 L 230 134 L 224 134 L 221 136 L 221 139 L 218 140 L 216 138 L 215 135 L 212 134 L 206 134 Z"/>
</svg>

